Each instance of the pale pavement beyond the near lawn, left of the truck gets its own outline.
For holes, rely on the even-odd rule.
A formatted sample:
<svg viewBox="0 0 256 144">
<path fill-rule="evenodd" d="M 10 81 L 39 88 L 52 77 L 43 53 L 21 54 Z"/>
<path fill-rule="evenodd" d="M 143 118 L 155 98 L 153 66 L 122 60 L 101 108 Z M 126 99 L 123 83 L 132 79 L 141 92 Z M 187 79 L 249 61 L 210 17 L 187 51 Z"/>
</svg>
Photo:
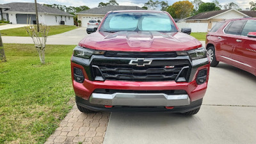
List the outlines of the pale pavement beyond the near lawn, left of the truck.
<svg viewBox="0 0 256 144">
<path fill-rule="evenodd" d="M 46 44 L 49 45 L 77 45 L 86 35 L 86 28 L 77 28 L 58 35 L 48 36 Z M 2 36 L 3 43 L 8 44 L 34 44 L 29 36 Z"/>
</svg>

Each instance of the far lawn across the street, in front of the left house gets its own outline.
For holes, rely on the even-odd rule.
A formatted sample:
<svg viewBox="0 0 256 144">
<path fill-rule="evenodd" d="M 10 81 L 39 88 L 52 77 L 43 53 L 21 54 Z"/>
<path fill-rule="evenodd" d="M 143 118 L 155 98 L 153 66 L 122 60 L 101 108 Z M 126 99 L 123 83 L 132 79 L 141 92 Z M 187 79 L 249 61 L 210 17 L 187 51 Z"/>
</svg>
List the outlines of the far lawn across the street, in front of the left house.
<svg viewBox="0 0 256 144">
<path fill-rule="evenodd" d="M 64 33 L 66 31 L 70 31 L 72 29 L 76 29 L 76 26 L 49 26 L 49 36 L 56 35 L 59 33 Z M 0 31 L 2 36 L 29 36 L 24 27 L 21 28 L 13 28 L 13 29 L 4 29 Z"/>
</svg>

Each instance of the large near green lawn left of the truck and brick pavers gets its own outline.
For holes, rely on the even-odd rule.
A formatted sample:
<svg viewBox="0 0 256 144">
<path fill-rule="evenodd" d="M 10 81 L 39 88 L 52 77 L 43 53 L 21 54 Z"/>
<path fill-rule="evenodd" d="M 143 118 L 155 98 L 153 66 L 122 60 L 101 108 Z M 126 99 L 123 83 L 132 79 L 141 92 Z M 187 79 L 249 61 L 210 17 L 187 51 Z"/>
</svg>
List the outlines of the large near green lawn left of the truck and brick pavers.
<svg viewBox="0 0 256 144">
<path fill-rule="evenodd" d="M 4 44 L 0 63 L 0 143 L 44 143 L 74 104 L 70 56 L 75 45 Z"/>
</svg>

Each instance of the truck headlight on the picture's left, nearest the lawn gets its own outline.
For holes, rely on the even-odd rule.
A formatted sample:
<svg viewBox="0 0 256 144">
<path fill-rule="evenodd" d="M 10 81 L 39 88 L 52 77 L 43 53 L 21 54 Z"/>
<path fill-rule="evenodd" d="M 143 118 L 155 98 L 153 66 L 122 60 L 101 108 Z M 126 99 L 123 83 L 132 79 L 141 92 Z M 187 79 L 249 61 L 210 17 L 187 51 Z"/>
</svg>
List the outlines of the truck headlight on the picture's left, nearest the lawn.
<svg viewBox="0 0 256 144">
<path fill-rule="evenodd" d="M 91 58 L 91 56 L 93 54 L 95 55 L 102 55 L 104 54 L 105 51 L 96 51 L 96 50 L 92 50 L 92 49 L 86 49 L 80 46 L 76 46 L 74 49 L 74 56 L 80 57 L 80 58 Z"/>
</svg>

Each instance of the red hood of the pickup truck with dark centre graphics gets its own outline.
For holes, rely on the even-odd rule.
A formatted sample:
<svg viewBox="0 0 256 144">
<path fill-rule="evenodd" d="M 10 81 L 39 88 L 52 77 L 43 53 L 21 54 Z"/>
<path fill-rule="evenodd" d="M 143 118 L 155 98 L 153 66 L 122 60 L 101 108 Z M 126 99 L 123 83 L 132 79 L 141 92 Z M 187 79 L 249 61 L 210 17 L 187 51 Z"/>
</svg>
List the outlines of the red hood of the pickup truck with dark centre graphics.
<svg viewBox="0 0 256 144">
<path fill-rule="evenodd" d="M 86 36 L 79 46 L 104 51 L 188 51 L 202 47 L 193 36 L 185 33 L 157 31 L 96 31 Z"/>
</svg>

